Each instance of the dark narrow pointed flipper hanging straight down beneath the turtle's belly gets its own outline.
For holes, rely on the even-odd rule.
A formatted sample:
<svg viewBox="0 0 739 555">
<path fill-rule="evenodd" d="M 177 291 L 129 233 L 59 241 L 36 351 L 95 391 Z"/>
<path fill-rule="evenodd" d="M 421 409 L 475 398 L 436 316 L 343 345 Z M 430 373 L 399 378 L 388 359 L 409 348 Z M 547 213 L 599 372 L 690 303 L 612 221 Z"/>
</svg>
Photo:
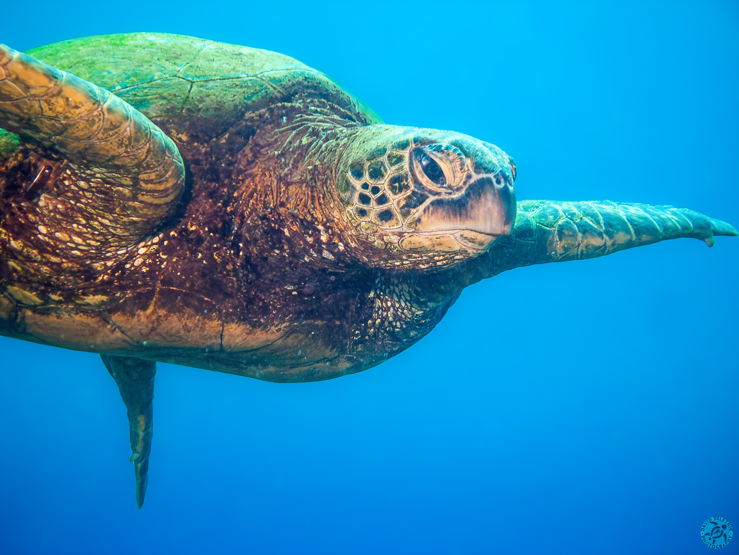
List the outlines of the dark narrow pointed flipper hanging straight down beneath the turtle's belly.
<svg viewBox="0 0 739 555">
<path fill-rule="evenodd" d="M 157 363 L 134 357 L 114 357 L 101 354 L 110 375 L 118 384 L 120 397 L 126 403 L 131 428 L 131 461 L 136 474 L 136 503 L 143 505 L 149 480 L 149 453 L 151 452 L 151 401 L 154 399 L 154 374 Z"/>
</svg>

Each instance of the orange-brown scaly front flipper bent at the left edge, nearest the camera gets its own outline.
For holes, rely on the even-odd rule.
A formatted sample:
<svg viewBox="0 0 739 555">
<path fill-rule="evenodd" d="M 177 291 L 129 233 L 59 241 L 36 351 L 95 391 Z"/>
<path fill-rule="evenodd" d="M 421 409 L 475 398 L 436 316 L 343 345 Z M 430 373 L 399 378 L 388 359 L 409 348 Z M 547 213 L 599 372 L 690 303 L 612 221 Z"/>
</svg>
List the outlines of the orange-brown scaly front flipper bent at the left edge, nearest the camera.
<svg viewBox="0 0 739 555">
<path fill-rule="evenodd" d="M 86 174 L 84 192 L 98 199 L 101 218 L 122 228 L 119 237 L 153 231 L 183 191 L 180 152 L 146 116 L 109 91 L 2 44 L 0 127 Z"/>
</svg>

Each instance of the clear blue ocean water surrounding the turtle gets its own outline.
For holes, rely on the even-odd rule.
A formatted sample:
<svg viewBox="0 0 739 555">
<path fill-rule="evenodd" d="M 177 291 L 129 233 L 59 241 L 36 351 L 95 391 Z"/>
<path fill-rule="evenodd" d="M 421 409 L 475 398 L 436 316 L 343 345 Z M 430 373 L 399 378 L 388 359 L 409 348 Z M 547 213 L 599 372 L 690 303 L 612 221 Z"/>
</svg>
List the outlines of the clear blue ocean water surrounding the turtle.
<svg viewBox="0 0 739 555">
<path fill-rule="evenodd" d="M 739 224 L 739 6 L 16 2 L 0 41 L 180 33 L 291 55 L 388 123 L 517 161 L 519 198 Z M 701 554 L 739 526 L 739 239 L 505 272 L 375 369 L 160 364 L 143 509 L 95 354 L 0 338 L 0 552 Z M 722 553 L 739 553 L 735 539 Z"/>
</svg>

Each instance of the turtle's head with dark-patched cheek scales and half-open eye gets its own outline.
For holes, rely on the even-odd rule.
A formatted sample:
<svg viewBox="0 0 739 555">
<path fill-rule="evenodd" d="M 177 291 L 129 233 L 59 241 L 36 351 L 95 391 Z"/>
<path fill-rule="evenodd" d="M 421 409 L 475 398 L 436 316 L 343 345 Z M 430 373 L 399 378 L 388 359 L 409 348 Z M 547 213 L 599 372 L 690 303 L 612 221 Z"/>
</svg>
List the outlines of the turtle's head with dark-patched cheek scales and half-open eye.
<svg viewBox="0 0 739 555">
<path fill-rule="evenodd" d="M 514 226 L 516 165 L 469 135 L 364 127 L 337 169 L 338 196 L 372 266 L 449 267 Z"/>
</svg>

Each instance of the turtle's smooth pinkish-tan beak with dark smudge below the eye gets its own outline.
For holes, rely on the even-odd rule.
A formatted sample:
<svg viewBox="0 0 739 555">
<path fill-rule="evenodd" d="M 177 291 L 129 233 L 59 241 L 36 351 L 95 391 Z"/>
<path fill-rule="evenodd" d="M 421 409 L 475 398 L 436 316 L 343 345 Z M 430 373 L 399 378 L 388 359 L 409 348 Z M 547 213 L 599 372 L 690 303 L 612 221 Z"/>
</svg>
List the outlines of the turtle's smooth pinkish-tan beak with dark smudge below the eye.
<svg viewBox="0 0 739 555">
<path fill-rule="evenodd" d="M 431 201 L 416 220 L 416 232 L 462 231 L 470 245 L 487 247 L 500 235 L 511 235 L 516 219 L 513 178 L 497 172 L 472 181 L 461 195 Z M 489 240 L 486 241 L 486 236 Z M 465 241 L 468 242 L 468 241 Z"/>
</svg>

